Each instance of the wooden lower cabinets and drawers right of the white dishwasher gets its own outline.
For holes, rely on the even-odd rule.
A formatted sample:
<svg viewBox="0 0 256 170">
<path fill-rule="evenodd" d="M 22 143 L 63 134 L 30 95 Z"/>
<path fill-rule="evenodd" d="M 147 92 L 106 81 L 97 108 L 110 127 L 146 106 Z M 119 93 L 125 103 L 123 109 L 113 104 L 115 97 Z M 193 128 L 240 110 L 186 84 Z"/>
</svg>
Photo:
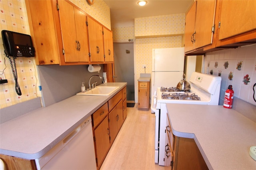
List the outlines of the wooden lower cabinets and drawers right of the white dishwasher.
<svg viewBox="0 0 256 170">
<path fill-rule="evenodd" d="M 126 86 L 92 114 L 97 169 L 100 169 L 127 116 Z"/>
</svg>

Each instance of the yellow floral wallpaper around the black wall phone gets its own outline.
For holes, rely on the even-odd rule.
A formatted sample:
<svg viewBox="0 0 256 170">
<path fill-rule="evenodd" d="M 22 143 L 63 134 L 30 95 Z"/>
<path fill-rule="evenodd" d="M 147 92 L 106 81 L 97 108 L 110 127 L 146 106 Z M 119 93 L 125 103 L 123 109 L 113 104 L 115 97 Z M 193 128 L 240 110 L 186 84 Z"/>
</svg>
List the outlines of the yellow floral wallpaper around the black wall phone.
<svg viewBox="0 0 256 170">
<path fill-rule="evenodd" d="M 27 18 L 24 0 L 0 0 L 1 30 L 30 34 Z M 4 55 L 2 35 L 0 37 L 0 54 L 0 77 L 8 80 L 8 83 L 0 84 L 0 108 L 39 97 L 41 94 L 37 88 L 39 82 L 34 57 L 17 57 L 15 60 L 18 83 L 22 92 L 22 95 L 19 96 L 16 94 L 10 61 Z"/>
</svg>

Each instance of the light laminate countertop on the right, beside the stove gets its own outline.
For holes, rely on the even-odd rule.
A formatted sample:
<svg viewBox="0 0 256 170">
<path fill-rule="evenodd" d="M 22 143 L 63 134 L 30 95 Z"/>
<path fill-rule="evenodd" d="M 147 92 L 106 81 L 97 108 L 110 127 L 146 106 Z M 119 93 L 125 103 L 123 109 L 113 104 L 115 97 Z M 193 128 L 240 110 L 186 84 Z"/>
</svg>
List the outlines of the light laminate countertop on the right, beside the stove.
<svg viewBox="0 0 256 170">
<path fill-rule="evenodd" d="M 214 170 L 255 170 L 249 155 L 256 146 L 256 123 L 223 106 L 166 104 L 172 132 L 194 138 L 207 166 Z"/>
</svg>

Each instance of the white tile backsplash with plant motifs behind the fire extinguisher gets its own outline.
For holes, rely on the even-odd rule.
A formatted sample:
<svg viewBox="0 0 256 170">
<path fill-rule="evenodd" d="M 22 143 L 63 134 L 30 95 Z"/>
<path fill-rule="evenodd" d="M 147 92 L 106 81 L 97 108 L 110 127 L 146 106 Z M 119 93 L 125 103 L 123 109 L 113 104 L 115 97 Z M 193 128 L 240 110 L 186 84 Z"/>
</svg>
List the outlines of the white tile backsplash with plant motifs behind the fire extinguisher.
<svg viewBox="0 0 256 170">
<path fill-rule="evenodd" d="M 253 100 L 253 85 L 256 83 L 256 44 L 207 53 L 205 59 L 204 72 L 222 78 L 220 105 L 223 104 L 228 85 L 233 86 L 235 97 L 256 105 Z"/>
</svg>

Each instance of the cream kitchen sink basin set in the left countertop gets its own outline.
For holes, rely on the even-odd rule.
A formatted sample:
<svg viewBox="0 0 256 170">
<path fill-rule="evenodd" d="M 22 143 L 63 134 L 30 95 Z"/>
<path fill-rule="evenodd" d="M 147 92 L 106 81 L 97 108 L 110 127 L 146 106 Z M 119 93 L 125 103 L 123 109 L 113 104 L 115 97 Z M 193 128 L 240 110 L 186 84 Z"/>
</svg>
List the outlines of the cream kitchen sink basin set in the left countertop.
<svg viewBox="0 0 256 170">
<path fill-rule="evenodd" d="M 118 86 L 96 86 L 96 88 L 88 92 L 80 92 L 76 95 L 108 96 L 118 88 Z"/>
</svg>

